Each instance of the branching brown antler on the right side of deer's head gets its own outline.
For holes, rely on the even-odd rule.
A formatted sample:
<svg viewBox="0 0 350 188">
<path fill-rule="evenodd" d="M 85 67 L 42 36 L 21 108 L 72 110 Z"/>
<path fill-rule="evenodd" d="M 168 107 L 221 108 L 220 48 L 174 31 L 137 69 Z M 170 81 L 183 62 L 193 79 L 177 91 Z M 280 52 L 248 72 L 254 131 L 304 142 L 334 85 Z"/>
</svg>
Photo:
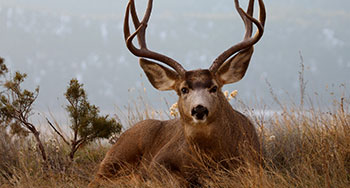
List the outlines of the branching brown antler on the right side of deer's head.
<svg viewBox="0 0 350 188">
<path fill-rule="evenodd" d="M 209 70 L 213 72 L 214 74 L 216 71 L 220 68 L 220 66 L 232 55 L 235 53 L 245 50 L 247 48 L 252 47 L 254 44 L 256 44 L 260 38 L 262 37 L 264 33 L 264 25 L 265 25 L 265 19 L 266 19 L 266 11 L 265 11 L 265 5 L 262 0 L 259 1 L 259 21 L 255 18 L 253 18 L 253 12 L 254 12 L 254 0 L 249 1 L 248 10 L 247 12 L 244 12 L 244 10 L 239 6 L 238 0 L 235 0 L 235 7 L 238 11 L 239 15 L 241 16 L 244 25 L 245 25 L 245 35 L 243 41 L 235 44 L 234 46 L 230 47 L 226 51 L 224 51 L 222 54 L 220 54 Z M 258 30 L 256 31 L 255 35 L 251 37 L 252 35 L 252 22 L 256 25 Z"/>
</svg>

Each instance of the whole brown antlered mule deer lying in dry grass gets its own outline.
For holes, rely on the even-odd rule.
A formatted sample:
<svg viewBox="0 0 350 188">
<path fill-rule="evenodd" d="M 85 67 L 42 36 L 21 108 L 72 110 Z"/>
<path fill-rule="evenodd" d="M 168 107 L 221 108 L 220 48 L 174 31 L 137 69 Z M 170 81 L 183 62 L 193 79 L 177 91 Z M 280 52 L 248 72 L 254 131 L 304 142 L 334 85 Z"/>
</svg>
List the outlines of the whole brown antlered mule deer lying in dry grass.
<svg viewBox="0 0 350 188">
<path fill-rule="evenodd" d="M 150 169 L 161 166 L 169 173 L 191 181 L 193 177 L 188 167 L 195 167 L 198 151 L 217 162 L 230 158 L 258 159 L 260 144 L 254 125 L 231 107 L 221 91 L 223 85 L 243 78 L 253 54 L 253 45 L 263 35 L 265 6 L 263 0 L 258 1 L 259 20 L 253 18 L 254 0 L 249 1 L 246 12 L 238 0 L 234 1 L 245 24 L 243 41 L 219 55 L 209 69 L 192 71 L 186 71 L 175 60 L 147 48 L 146 28 L 153 0 L 148 1 L 141 21 L 134 1 L 129 1 L 124 19 L 126 46 L 140 57 L 140 65 L 153 87 L 176 91 L 180 118 L 145 120 L 125 131 L 101 162 L 91 187 L 106 179 L 114 179 L 122 168 L 135 170 L 141 166 Z M 130 15 L 135 26 L 132 34 Z M 254 36 L 252 23 L 257 27 Z M 132 43 L 135 37 L 140 48 Z M 173 70 L 149 59 L 162 62 Z"/>
</svg>

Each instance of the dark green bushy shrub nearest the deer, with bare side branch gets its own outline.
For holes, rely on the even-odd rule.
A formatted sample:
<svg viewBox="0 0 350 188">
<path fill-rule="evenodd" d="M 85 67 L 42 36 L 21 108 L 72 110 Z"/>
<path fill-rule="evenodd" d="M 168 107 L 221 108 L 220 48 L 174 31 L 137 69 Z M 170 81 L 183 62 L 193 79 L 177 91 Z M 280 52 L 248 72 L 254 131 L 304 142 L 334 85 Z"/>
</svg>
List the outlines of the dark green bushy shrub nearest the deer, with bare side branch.
<svg viewBox="0 0 350 188">
<path fill-rule="evenodd" d="M 117 123 L 114 118 L 109 118 L 108 115 L 100 116 L 99 108 L 88 102 L 83 84 L 80 84 L 78 80 L 72 79 L 70 81 L 64 95 L 69 103 L 66 106 L 66 110 L 71 119 L 70 128 L 73 132 L 73 138 L 68 142 L 51 123 L 50 125 L 62 137 L 64 142 L 70 145 L 69 157 L 71 160 L 74 159 L 76 151 L 81 146 L 96 139 L 107 139 L 121 131 L 121 124 Z"/>
</svg>

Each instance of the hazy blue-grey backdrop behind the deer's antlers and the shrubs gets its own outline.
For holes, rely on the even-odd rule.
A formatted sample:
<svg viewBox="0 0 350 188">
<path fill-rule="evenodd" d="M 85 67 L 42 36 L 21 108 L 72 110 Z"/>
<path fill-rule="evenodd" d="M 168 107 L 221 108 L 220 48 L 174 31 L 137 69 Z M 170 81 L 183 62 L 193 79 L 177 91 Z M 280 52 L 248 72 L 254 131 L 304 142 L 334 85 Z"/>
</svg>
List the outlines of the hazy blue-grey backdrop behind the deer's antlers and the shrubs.
<svg viewBox="0 0 350 188">
<path fill-rule="evenodd" d="M 247 1 L 240 1 L 244 6 Z M 146 0 L 136 0 L 140 13 Z M 11 70 L 28 73 L 26 86 L 40 85 L 36 108 L 62 109 L 71 78 L 84 83 L 89 99 L 103 111 L 130 104 L 146 89 L 158 107 L 172 92 L 156 91 L 143 76 L 137 58 L 123 41 L 127 0 L 0 0 L 0 56 Z M 349 85 L 350 1 L 266 0 L 267 23 L 245 78 L 225 89 L 239 96 L 297 98 L 300 54 L 307 89 L 331 101 Z M 242 22 L 233 0 L 155 0 L 148 28 L 151 49 L 180 61 L 185 68 L 208 68 L 223 50 L 239 42 Z M 269 99 L 268 99 L 269 98 Z"/>
</svg>

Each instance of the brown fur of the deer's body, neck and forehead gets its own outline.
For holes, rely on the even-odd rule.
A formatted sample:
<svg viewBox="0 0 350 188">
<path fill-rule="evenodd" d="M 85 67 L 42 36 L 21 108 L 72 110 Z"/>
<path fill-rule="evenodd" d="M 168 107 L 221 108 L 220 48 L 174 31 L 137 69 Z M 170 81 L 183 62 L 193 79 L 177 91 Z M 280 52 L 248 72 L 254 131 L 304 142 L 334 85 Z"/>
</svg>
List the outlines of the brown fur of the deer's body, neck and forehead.
<svg viewBox="0 0 350 188">
<path fill-rule="evenodd" d="M 159 166 L 185 182 L 191 182 L 194 168 L 189 167 L 196 167 L 198 151 L 216 162 L 233 158 L 257 161 L 260 145 L 254 126 L 248 118 L 232 109 L 221 92 L 222 85 L 217 82 L 208 70 L 190 71 L 185 79 L 177 79 L 176 88 L 192 85 L 190 90 L 207 90 L 214 84 L 219 86 L 212 96 L 214 108 L 206 122 L 193 122 L 185 110 L 189 105 L 185 96 L 176 89 L 181 118 L 145 120 L 125 131 L 106 154 L 90 186 L 117 178 L 121 170 L 145 167 L 149 173 L 152 169 L 156 172 Z"/>
</svg>

